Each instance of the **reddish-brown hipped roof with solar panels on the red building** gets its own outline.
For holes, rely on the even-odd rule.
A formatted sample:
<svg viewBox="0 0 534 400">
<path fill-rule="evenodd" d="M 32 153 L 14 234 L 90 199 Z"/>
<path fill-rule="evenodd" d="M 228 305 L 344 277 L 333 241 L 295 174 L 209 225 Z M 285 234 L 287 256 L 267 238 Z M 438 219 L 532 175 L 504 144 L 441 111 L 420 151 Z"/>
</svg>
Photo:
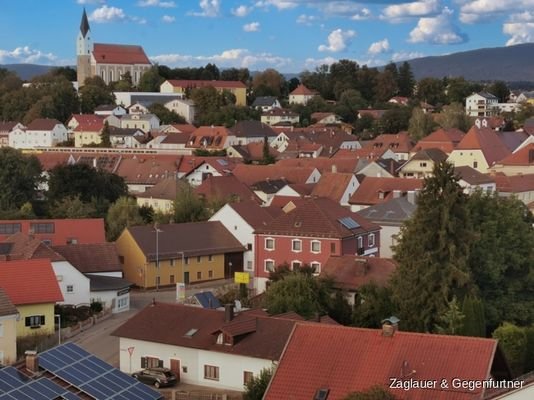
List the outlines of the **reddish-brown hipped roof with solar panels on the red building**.
<svg viewBox="0 0 534 400">
<path fill-rule="evenodd" d="M 380 227 L 364 217 L 327 198 L 311 198 L 293 202 L 295 208 L 282 213 L 256 233 L 288 236 L 345 238 Z M 351 219 L 352 227 L 342 221 Z"/>
</svg>

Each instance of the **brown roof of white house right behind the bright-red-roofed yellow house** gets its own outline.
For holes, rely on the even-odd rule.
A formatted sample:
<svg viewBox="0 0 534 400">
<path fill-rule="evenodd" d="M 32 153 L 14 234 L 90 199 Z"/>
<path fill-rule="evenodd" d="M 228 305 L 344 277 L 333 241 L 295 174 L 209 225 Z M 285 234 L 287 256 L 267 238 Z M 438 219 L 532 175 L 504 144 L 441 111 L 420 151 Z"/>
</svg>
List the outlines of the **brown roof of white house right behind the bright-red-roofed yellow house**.
<svg viewBox="0 0 534 400">
<path fill-rule="evenodd" d="M 52 249 L 83 274 L 122 271 L 115 243 L 68 244 Z"/>
</svg>

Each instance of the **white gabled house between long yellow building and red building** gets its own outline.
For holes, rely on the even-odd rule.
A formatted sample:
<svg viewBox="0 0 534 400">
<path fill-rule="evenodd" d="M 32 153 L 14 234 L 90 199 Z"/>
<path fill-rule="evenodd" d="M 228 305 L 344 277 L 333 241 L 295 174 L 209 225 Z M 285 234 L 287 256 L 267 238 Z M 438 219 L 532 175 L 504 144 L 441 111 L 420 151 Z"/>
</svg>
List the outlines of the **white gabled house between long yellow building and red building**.
<svg viewBox="0 0 534 400">
<path fill-rule="evenodd" d="M 254 230 L 272 218 L 254 201 L 227 203 L 210 218 L 210 221 L 220 221 L 247 248 L 243 253 L 243 266 L 251 278 L 254 274 Z"/>
</svg>

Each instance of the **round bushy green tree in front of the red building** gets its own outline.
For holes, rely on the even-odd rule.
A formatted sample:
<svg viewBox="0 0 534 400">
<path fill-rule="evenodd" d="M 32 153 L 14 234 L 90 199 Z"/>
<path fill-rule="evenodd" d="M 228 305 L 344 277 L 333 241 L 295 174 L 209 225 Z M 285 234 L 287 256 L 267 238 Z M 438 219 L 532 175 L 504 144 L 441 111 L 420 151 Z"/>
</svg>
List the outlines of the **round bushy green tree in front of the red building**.
<svg viewBox="0 0 534 400">
<path fill-rule="evenodd" d="M 273 282 L 265 293 L 269 314 L 294 311 L 306 319 L 328 312 L 333 293 L 330 281 L 310 274 L 293 272 Z"/>
</svg>

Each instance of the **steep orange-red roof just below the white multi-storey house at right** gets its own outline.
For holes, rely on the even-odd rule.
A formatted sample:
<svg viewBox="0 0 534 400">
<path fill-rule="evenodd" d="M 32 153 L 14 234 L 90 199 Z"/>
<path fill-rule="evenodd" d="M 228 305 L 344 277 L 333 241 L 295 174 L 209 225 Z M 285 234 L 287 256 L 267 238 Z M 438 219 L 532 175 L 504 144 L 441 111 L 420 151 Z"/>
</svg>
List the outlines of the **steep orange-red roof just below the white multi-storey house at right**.
<svg viewBox="0 0 534 400">
<path fill-rule="evenodd" d="M 497 133 L 490 128 L 478 128 L 473 125 L 465 134 L 456 150 L 482 150 L 489 166 L 510 154 L 510 150 L 499 139 Z"/>
</svg>

